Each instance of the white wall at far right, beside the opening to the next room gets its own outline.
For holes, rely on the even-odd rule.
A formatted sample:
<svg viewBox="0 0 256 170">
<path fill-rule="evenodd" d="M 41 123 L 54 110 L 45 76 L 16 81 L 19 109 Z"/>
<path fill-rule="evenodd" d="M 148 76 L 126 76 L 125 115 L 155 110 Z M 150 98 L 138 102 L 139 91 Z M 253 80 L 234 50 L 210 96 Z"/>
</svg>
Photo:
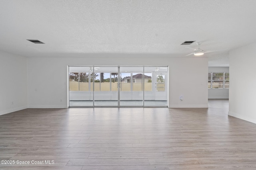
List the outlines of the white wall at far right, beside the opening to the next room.
<svg viewBox="0 0 256 170">
<path fill-rule="evenodd" d="M 230 51 L 228 115 L 256 123 L 256 43 Z"/>
</svg>

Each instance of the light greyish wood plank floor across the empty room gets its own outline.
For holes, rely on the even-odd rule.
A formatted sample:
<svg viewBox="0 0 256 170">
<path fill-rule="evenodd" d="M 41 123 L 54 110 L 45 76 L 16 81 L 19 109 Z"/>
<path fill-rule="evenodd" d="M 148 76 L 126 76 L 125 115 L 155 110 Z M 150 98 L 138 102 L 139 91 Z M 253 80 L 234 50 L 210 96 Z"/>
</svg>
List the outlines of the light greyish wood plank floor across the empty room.
<svg viewBox="0 0 256 170">
<path fill-rule="evenodd" d="M 0 169 L 255 170 L 255 139 L 254 123 L 228 116 L 228 100 L 208 109 L 24 109 L 0 116 L 0 160 L 15 161 Z"/>
</svg>

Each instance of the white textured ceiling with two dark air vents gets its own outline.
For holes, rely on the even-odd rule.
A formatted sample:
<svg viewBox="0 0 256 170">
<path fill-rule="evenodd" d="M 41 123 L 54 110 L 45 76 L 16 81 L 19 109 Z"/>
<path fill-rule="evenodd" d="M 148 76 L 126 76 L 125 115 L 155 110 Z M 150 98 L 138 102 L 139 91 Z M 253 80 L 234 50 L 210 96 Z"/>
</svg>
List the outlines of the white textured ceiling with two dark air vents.
<svg viewBox="0 0 256 170">
<path fill-rule="evenodd" d="M 228 66 L 230 49 L 256 41 L 256 0 L 0 0 L 0 51 L 26 57 L 185 57 L 196 42 L 180 44 L 192 40 L 205 51 L 224 49 L 204 57 Z"/>
</svg>

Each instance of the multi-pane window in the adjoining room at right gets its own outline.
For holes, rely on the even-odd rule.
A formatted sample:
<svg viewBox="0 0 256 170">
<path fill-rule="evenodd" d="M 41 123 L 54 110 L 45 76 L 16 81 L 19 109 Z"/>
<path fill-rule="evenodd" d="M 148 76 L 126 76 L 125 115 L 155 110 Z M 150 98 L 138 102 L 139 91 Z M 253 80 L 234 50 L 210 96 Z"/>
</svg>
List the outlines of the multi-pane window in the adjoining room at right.
<svg viewBox="0 0 256 170">
<path fill-rule="evenodd" d="M 208 72 L 208 88 L 229 88 L 229 73 Z"/>
</svg>

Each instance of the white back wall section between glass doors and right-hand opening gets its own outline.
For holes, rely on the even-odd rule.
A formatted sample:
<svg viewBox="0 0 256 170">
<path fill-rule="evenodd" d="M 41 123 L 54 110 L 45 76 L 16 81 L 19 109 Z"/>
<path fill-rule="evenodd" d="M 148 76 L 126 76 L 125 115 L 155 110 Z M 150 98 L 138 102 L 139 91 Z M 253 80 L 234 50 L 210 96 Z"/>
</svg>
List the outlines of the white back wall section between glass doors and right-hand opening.
<svg viewBox="0 0 256 170">
<path fill-rule="evenodd" d="M 208 107 L 208 59 L 170 59 L 168 64 L 169 107 Z"/>
</svg>

